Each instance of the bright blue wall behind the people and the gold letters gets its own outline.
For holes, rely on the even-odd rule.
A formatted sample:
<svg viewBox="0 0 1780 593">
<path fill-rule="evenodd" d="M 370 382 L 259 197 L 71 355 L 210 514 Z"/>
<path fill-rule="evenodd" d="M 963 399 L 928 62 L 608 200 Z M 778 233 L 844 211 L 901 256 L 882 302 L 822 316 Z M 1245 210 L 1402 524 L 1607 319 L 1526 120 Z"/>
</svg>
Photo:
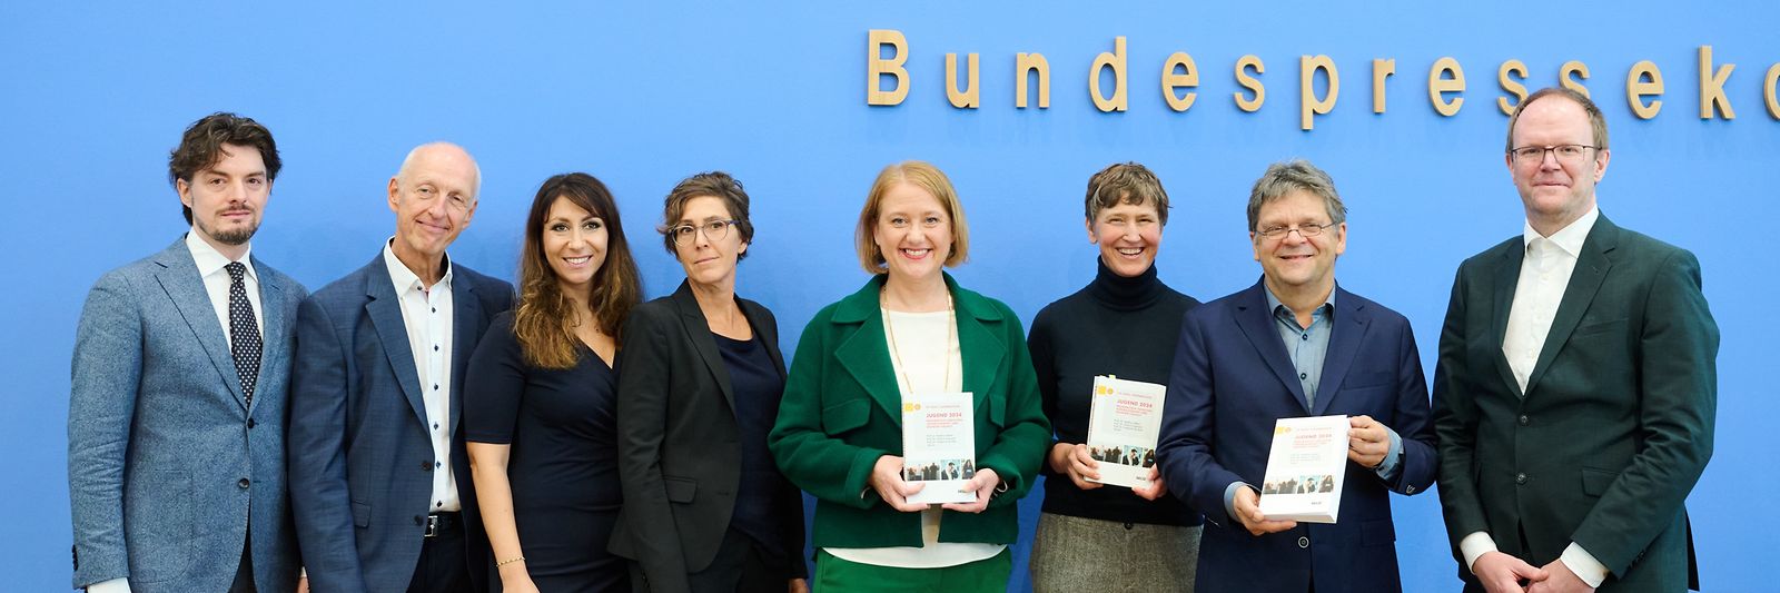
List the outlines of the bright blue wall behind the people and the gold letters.
<svg viewBox="0 0 1780 593">
<path fill-rule="evenodd" d="M 1102 166 L 1139 160 L 1161 175 L 1175 199 L 1162 278 L 1209 299 L 1258 276 L 1242 219 L 1250 183 L 1266 164 L 1303 157 L 1351 207 L 1342 285 L 1406 313 L 1431 374 L 1458 262 L 1522 224 L 1493 105 L 1506 59 L 1529 66 L 1529 87 L 1554 84 L 1565 61 L 1590 66 L 1613 128 L 1604 212 L 1700 256 L 1723 329 L 1718 454 L 1689 500 L 1702 573 L 1709 591 L 1771 582 L 1760 543 L 1773 513 L 1736 504 L 1780 490 L 1762 452 L 1780 394 L 1757 365 L 1759 306 L 1780 272 L 1766 253 L 1780 123 L 1760 94 L 1780 62 L 1775 2 L 322 4 L 0 7 L 0 237 L 14 258 L 0 292 L 12 329 L 0 340 L 0 451 L 11 461 L 0 589 L 68 586 L 64 422 L 80 303 L 103 271 L 183 232 L 166 153 L 203 114 L 237 110 L 278 135 L 287 167 L 255 253 L 312 288 L 368 262 L 390 235 L 384 182 L 424 141 L 461 142 L 484 171 L 457 262 L 511 274 L 532 191 L 580 169 L 618 194 L 650 296 L 680 278 L 648 235 L 660 198 L 685 175 L 732 171 L 755 196 L 758 226 L 740 292 L 778 312 L 787 351 L 819 306 L 865 280 L 853 221 L 888 162 L 924 158 L 952 176 L 974 239 L 959 281 L 1031 319 L 1093 276 L 1080 199 Z M 899 107 L 865 105 L 869 28 L 908 36 L 913 82 Z M 1114 36 L 1129 37 L 1130 110 L 1102 114 L 1088 64 Z M 1700 45 L 1737 64 L 1725 85 L 1734 121 L 1698 118 Z M 981 53 L 981 109 L 945 102 L 945 52 Z M 1048 57 L 1050 109 L 1013 109 L 1016 52 Z M 1202 69 L 1184 114 L 1159 89 L 1171 52 Z M 1230 100 L 1242 53 L 1267 68 L 1255 114 Z M 1317 53 L 1339 66 L 1342 93 L 1301 132 L 1298 59 Z M 1426 94 L 1428 66 L 1445 55 L 1468 82 L 1452 118 Z M 1376 57 L 1397 59 L 1385 114 L 1371 112 Z M 1634 119 L 1623 96 L 1625 73 L 1645 59 L 1668 84 L 1650 121 Z M 1435 495 L 1396 504 L 1406 588 L 1458 589 Z M 1034 495 L 1025 516 L 1036 508 Z M 1020 566 L 1016 588 L 1024 554 Z"/>
</svg>

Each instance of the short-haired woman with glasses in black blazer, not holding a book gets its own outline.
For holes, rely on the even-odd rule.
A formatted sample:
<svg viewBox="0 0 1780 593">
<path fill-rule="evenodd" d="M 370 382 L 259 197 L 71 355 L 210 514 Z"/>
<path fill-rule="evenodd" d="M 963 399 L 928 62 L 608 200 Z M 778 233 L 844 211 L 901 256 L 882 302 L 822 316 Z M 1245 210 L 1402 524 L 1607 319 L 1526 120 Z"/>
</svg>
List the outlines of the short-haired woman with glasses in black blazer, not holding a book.
<svg viewBox="0 0 1780 593">
<path fill-rule="evenodd" d="M 685 281 L 625 324 L 612 552 L 644 591 L 801 591 L 803 495 L 765 442 L 785 386 L 778 321 L 735 296 L 755 237 L 748 192 L 700 173 L 664 210 L 662 244 Z"/>
</svg>

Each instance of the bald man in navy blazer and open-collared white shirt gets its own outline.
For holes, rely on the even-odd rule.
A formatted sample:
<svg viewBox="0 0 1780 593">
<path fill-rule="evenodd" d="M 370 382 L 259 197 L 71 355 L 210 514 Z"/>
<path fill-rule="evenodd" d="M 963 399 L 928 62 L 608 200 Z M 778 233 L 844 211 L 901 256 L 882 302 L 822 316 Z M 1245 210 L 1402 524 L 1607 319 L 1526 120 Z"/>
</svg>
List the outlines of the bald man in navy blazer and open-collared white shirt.
<svg viewBox="0 0 1780 593">
<path fill-rule="evenodd" d="M 390 178 L 395 237 L 297 315 L 290 483 L 315 591 L 486 591 L 463 372 L 513 285 L 445 255 L 481 171 L 424 144 Z"/>
</svg>

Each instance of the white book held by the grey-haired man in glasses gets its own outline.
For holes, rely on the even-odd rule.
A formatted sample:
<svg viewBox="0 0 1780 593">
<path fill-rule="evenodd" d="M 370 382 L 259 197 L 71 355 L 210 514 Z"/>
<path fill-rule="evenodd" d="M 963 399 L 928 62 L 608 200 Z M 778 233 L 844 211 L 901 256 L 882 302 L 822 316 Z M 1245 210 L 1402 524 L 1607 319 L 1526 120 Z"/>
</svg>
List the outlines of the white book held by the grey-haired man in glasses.
<svg viewBox="0 0 1780 593">
<path fill-rule="evenodd" d="M 1260 486 L 1271 520 L 1333 524 L 1347 474 L 1347 417 L 1280 418 Z"/>
</svg>

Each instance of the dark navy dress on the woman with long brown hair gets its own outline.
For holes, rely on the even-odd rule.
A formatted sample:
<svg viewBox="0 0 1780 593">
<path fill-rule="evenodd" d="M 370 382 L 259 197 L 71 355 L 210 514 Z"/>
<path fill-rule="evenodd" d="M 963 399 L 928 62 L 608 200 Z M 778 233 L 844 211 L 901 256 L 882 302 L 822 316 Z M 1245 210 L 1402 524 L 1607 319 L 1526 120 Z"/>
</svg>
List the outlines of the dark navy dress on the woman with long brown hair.
<svg viewBox="0 0 1780 593">
<path fill-rule="evenodd" d="M 628 589 L 625 561 L 605 550 L 618 520 L 618 376 L 575 340 L 575 367 L 538 369 L 497 315 L 470 356 L 465 438 L 511 445 L 507 483 L 525 570 L 545 591 Z"/>
</svg>

